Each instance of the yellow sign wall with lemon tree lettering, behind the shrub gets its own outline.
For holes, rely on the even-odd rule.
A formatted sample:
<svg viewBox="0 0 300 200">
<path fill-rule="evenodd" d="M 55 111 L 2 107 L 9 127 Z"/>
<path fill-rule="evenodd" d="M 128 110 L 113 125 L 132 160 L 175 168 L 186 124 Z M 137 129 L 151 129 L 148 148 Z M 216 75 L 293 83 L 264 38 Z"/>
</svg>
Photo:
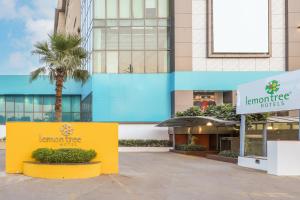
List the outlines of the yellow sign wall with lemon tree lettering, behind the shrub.
<svg viewBox="0 0 300 200">
<path fill-rule="evenodd" d="M 23 173 L 23 163 L 33 161 L 38 148 L 94 149 L 103 174 L 118 173 L 118 124 L 32 123 L 6 124 L 6 172 Z"/>
</svg>

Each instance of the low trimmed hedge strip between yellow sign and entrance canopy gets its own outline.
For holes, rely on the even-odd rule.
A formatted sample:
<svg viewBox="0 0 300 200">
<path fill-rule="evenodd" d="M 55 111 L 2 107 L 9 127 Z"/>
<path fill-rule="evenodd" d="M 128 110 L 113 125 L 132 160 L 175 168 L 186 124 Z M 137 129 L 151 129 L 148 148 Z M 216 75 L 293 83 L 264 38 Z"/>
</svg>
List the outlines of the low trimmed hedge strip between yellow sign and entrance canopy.
<svg viewBox="0 0 300 200">
<path fill-rule="evenodd" d="M 121 147 L 170 147 L 169 140 L 119 140 Z"/>
</svg>

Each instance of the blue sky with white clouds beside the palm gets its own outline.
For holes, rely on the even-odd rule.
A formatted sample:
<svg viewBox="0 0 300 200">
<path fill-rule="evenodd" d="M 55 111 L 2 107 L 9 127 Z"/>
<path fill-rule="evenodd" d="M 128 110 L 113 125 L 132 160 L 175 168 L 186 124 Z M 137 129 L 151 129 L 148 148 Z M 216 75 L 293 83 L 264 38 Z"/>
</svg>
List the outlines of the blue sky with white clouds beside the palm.
<svg viewBox="0 0 300 200">
<path fill-rule="evenodd" d="M 28 75 L 40 66 L 34 44 L 53 32 L 57 0 L 0 0 L 0 75 Z"/>
</svg>

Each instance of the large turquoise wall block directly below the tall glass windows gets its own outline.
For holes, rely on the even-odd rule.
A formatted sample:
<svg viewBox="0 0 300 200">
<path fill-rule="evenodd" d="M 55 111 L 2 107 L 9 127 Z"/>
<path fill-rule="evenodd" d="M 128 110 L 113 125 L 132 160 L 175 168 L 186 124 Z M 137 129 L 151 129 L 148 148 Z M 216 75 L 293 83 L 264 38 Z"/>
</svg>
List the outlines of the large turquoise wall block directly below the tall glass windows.
<svg viewBox="0 0 300 200">
<path fill-rule="evenodd" d="M 93 121 L 158 122 L 171 115 L 169 74 L 93 76 Z"/>
</svg>

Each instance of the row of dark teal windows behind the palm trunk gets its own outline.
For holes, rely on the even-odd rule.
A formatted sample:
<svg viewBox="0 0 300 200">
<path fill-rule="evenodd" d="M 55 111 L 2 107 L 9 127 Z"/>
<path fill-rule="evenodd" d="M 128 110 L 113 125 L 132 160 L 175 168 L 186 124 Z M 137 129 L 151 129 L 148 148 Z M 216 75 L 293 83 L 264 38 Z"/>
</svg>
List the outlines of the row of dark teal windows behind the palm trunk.
<svg viewBox="0 0 300 200">
<path fill-rule="evenodd" d="M 63 96 L 63 121 L 80 121 L 80 96 Z M 0 124 L 6 121 L 54 121 L 55 96 L 0 96 Z"/>
</svg>

